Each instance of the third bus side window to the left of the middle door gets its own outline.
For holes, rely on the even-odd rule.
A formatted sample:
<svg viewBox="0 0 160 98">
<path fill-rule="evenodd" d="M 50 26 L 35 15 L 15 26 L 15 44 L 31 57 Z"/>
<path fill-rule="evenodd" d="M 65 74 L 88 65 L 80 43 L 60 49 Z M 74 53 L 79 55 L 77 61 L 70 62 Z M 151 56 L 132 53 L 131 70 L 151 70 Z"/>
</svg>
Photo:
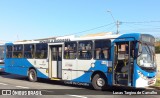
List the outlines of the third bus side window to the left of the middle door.
<svg viewBox="0 0 160 98">
<path fill-rule="evenodd" d="M 13 58 L 22 58 L 22 57 L 23 57 L 23 45 L 14 45 Z"/>
</svg>

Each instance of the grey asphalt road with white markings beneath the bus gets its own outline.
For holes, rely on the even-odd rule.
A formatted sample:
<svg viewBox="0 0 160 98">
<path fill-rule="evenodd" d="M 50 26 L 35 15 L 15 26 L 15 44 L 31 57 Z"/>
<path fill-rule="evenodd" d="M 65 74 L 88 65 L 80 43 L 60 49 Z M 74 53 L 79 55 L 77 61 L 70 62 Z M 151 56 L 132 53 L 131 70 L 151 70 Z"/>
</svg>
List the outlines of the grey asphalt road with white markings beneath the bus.
<svg viewBox="0 0 160 98">
<path fill-rule="evenodd" d="M 117 91 L 118 89 L 118 91 Z M 6 90 L 11 90 L 12 95 L 0 95 L 0 98 L 159 98 L 160 95 L 116 95 L 117 92 L 125 93 L 122 87 L 114 88 L 107 91 L 92 90 L 89 86 L 69 85 L 64 82 L 51 81 L 46 79 L 39 79 L 38 82 L 29 82 L 27 77 L 0 73 L 0 94 L 6 94 Z M 3 92 L 2 92 L 3 90 Z M 115 91 L 114 91 L 115 90 Z M 155 91 L 137 89 L 126 90 L 129 92 L 151 92 Z M 36 91 L 37 95 L 33 94 Z M 114 91 L 114 92 L 113 92 Z M 20 92 L 20 93 L 18 93 Z M 160 91 L 155 91 L 155 93 Z M 113 94 L 114 93 L 114 94 Z M 17 95 L 18 94 L 18 95 Z M 25 95 L 27 94 L 27 95 Z M 41 95 L 42 94 L 42 95 Z M 45 94 L 45 95 L 44 95 Z M 47 94 L 47 95 L 46 95 Z"/>
</svg>

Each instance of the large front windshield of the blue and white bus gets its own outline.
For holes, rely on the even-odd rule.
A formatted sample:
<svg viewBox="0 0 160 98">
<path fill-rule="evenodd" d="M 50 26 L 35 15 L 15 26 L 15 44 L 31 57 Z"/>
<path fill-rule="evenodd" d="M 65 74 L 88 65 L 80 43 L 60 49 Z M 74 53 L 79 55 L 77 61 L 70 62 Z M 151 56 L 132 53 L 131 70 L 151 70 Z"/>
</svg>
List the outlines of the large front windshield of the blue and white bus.
<svg viewBox="0 0 160 98">
<path fill-rule="evenodd" d="M 137 58 L 138 65 L 146 71 L 154 71 L 155 65 L 155 48 L 153 45 L 139 42 L 139 56 Z"/>
</svg>

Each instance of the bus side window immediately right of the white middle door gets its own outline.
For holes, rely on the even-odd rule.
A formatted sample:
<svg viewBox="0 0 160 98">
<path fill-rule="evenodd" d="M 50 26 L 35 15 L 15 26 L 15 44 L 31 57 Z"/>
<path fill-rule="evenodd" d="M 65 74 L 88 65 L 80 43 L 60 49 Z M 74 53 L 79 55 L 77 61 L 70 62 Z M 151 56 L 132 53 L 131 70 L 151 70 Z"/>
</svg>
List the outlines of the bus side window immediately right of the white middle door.
<svg viewBox="0 0 160 98">
<path fill-rule="evenodd" d="M 64 59 L 75 59 L 77 42 L 66 42 L 64 47 Z"/>
</svg>

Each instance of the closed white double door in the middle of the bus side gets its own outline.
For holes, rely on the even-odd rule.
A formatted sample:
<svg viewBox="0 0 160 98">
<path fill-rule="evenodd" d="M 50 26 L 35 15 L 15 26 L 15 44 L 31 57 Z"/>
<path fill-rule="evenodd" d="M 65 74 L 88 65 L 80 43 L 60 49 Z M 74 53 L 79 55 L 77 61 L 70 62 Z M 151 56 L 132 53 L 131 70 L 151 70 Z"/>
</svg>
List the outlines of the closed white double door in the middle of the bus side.
<svg viewBox="0 0 160 98">
<path fill-rule="evenodd" d="M 52 45 L 51 48 L 51 78 L 62 78 L 62 45 Z"/>
</svg>

